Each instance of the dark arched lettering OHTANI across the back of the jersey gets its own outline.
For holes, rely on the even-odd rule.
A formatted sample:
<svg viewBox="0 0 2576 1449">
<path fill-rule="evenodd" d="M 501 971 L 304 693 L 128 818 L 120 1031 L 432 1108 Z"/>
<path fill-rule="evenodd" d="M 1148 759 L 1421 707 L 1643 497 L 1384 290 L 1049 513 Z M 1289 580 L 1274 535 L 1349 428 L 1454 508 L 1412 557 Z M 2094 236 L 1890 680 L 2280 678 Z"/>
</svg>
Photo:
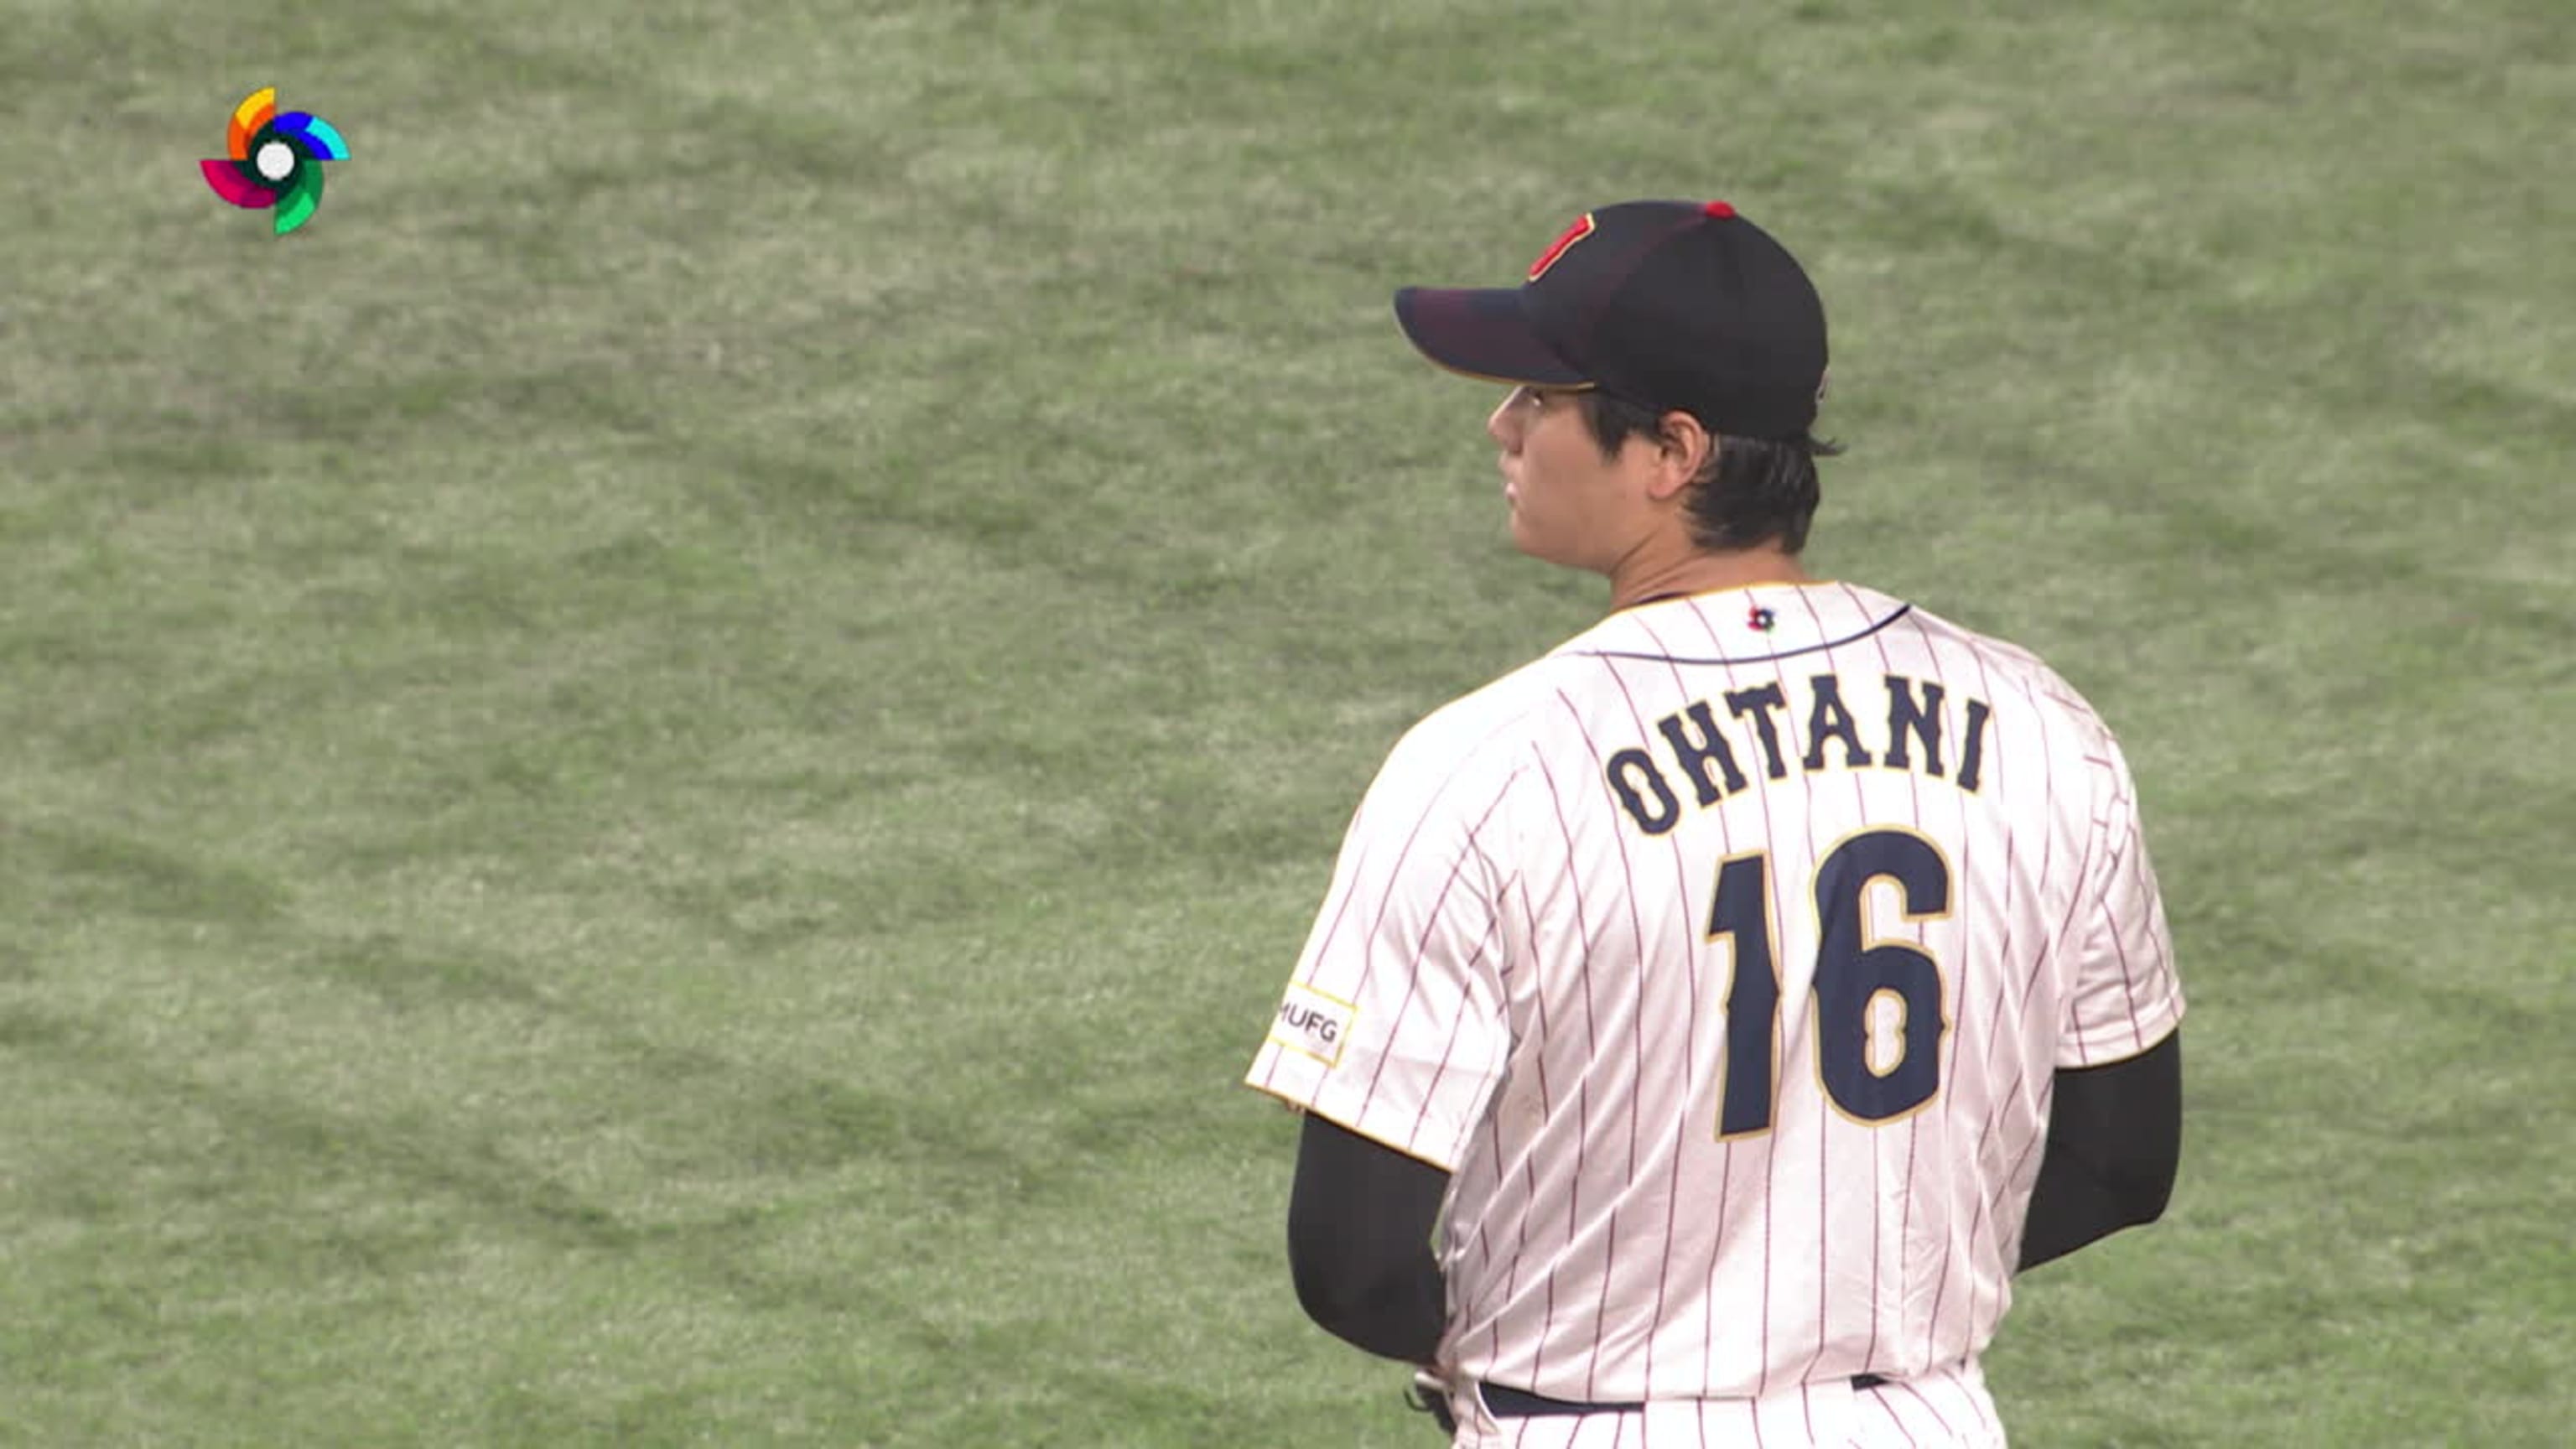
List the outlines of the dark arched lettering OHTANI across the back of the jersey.
<svg viewBox="0 0 2576 1449">
<path fill-rule="evenodd" d="M 1682 797 L 1705 810 L 1765 779 L 1788 779 L 1790 768 L 1914 771 L 1976 794 L 1994 709 L 1984 699 L 1950 709 L 1932 681 L 1893 673 L 1880 681 L 1883 694 L 1875 683 L 1844 691 L 1842 676 L 1819 673 L 1788 688 L 1762 683 L 1695 699 L 1654 722 L 1651 748 L 1610 755 L 1610 794 L 1649 835 L 1680 825 Z"/>
</svg>

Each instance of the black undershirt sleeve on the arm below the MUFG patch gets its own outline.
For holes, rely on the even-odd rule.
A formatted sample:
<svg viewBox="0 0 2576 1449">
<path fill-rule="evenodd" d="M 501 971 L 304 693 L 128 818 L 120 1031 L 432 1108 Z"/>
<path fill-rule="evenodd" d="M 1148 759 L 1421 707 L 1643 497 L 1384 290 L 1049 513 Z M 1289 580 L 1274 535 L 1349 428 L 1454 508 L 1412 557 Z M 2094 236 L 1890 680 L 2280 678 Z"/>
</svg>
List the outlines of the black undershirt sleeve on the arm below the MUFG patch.
<svg viewBox="0 0 2576 1449">
<path fill-rule="evenodd" d="M 1432 1227 L 1448 1173 L 1306 1116 L 1288 1191 L 1296 1297 L 1334 1338 L 1430 1364 L 1448 1328 Z"/>
</svg>

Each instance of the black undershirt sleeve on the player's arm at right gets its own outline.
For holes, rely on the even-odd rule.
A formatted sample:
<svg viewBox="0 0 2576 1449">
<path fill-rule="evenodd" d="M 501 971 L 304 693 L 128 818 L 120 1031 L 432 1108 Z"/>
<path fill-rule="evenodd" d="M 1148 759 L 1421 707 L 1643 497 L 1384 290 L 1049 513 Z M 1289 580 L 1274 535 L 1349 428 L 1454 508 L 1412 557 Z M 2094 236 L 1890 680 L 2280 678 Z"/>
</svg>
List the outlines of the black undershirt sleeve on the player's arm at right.
<svg viewBox="0 0 2576 1449">
<path fill-rule="evenodd" d="M 2125 1062 L 2061 1070 L 2020 1269 L 2164 1217 L 2179 1160 L 2179 1031 Z"/>
</svg>

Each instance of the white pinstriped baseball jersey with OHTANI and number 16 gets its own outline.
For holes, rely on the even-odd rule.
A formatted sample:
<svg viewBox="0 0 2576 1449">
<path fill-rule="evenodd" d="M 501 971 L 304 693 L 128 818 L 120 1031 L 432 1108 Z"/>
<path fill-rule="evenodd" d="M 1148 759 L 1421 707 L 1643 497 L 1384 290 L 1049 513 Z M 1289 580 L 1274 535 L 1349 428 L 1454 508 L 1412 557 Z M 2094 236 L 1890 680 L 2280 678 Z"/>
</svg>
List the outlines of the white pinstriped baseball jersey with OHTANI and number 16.
<svg viewBox="0 0 2576 1449">
<path fill-rule="evenodd" d="M 1973 1361 L 2050 1073 L 2182 1018 L 2110 730 L 1883 593 L 1620 611 L 1394 748 L 1247 1083 L 1453 1173 L 1443 1369 Z"/>
</svg>

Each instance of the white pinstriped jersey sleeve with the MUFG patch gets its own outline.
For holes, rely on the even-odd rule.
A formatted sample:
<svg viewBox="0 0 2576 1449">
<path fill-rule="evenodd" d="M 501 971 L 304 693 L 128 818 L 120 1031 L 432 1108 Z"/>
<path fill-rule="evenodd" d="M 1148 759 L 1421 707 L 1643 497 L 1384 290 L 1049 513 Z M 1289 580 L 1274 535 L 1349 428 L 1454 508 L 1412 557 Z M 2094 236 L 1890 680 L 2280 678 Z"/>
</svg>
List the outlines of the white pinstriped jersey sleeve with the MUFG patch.
<svg viewBox="0 0 2576 1449">
<path fill-rule="evenodd" d="M 1244 1083 L 1458 1171 L 1512 1052 L 1479 846 L 1512 779 L 1425 753 L 1399 745 L 1360 802 Z"/>
</svg>

